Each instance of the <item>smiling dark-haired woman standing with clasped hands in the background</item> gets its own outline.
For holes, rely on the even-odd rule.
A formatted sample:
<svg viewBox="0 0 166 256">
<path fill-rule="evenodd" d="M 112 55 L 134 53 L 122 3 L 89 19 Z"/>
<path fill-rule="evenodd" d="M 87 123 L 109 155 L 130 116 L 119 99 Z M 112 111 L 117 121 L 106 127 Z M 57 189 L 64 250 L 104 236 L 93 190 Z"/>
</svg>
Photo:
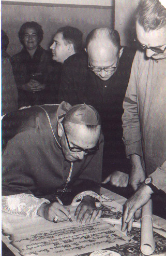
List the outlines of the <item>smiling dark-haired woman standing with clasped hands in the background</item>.
<svg viewBox="0 0 166 256">
<path fill-rule="evenodd" d="M 40 46 L 43 39 L 41 25 L 34 21 L 25 22 L 19 30 L 19 39 L 23 48 L 11 57 L 19 107 L 51 103 L 47 102 L 45 94 L 49 89 L 47 79 L 52 70 L 52 58 L 51 53 Z M 56 80 L 54 86 L 57 86 Z"/>
</svg>

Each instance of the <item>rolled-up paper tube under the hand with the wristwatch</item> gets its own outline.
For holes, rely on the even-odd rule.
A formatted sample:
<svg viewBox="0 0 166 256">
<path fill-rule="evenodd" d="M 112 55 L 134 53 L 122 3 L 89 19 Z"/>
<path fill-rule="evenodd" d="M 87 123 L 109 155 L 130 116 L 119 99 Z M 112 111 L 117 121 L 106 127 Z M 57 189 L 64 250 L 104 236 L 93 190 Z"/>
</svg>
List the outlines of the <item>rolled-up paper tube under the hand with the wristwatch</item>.
<svg viewBox="0 0 166 256">
<path fill-rule="evenodd" d="M 140 249 L 144 255 L 150 255 L 155 250 L 151 199 L 142 207 Z"/>
</svg>

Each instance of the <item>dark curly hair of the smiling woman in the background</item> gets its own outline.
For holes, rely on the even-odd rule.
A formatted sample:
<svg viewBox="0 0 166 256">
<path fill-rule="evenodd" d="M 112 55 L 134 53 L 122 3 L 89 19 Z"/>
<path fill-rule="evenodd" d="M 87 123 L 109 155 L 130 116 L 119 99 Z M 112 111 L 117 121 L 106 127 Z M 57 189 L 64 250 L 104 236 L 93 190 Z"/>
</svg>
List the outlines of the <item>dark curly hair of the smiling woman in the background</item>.
<svg viewBox="0 0 166 256">
<path fill-rule="evenodd" d="M 19 30 L 19 39 L 20 39 L 20 43 L 22 45 L 24 45 L 23 43 L 23 35 L 25 33 L 25 29 L 35 29 L 36 30 L 36 33 L 38 35 L 38 38 L 39 38 L 39 44 L 41 43 L 42 41 L 42 38 L 43 38 L 43 30 L 41 28 L 41 25 L 39 25 L 37 22 L 35 21 L 31 21 L 31 22 L 25 22 L 20 30 Z"/>
</svg>

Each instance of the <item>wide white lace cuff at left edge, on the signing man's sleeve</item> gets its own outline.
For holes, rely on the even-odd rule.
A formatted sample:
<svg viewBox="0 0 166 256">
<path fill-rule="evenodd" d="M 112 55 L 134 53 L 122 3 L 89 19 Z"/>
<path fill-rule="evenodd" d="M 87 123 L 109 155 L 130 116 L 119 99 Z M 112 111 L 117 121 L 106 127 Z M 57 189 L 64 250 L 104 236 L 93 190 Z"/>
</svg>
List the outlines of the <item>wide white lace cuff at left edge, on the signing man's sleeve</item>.
<svg viewBox="0 0 166 256">
<path fill-rule="evenodd" d="M 37 217 L 37 210 L 43 203 L 50 203 L 45 198 L 37 198 L 29 194 L 2 196 L 2 210 L 10 214 L 28 218 Z"/>
</svg>

